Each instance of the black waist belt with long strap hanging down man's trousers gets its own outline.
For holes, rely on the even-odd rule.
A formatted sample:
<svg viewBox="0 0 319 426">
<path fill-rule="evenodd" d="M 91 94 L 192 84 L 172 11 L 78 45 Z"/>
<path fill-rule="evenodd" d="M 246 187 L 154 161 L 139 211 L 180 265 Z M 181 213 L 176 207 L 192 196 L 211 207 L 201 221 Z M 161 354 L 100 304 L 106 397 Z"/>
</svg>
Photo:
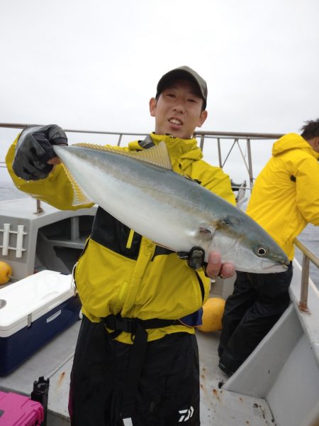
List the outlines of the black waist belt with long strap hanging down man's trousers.
<svg viewBox="0 0 319 426">
<path fill-rule="evenodd" d="M 114 330 L 112 337 L 115 338 L 121 332 L 127 332 L 134 336 L 134 343 L 130 350 L 128 361 L 128 373 L 123 391 L 121 418 L 132 417 L 135 413 L 135 398 L 138 391 L 138 381 L 142 371 L 142 365 L 146 353 L 147 332 L 146 329 L 169 327 L 169 325 L 180 324 L 179 320 L 161 320 L 152 318 L 140 320 L 139 318 L 122 318 L 121 315 L 108 315 L 101 318 L 108 329 Z"/>
</svg>

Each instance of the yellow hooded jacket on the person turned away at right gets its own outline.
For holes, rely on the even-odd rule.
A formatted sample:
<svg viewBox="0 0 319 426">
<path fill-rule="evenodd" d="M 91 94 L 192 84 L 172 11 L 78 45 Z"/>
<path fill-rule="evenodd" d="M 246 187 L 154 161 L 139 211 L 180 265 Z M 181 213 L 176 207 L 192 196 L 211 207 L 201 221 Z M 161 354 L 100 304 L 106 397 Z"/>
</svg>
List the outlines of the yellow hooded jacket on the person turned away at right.
<svg viewBox="0 0 319 426">
<path fill-rule="evenodd" d="M 319 225 L 319 153 L 296 133 L 274 143 L 257 177 L 247 214 L 293 259 L 293 239 L 308 222 Z"/>
</svg>

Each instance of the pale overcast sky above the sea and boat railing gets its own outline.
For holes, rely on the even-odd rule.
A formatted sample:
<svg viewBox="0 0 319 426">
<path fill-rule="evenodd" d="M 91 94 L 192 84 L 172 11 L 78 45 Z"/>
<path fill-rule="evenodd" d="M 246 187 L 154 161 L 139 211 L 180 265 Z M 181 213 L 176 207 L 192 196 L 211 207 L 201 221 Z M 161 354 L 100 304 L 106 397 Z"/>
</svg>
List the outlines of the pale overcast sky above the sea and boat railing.
<svg viewBox="0 0 319 426">
<path fill-rule="evenodd" d="M 0 0 L 0 121 L 152 131 L 159 77 L 189 65 L 203 130 L 298 132 L 319 117 L 318 23 L 318 0 Z"/>
</svg>

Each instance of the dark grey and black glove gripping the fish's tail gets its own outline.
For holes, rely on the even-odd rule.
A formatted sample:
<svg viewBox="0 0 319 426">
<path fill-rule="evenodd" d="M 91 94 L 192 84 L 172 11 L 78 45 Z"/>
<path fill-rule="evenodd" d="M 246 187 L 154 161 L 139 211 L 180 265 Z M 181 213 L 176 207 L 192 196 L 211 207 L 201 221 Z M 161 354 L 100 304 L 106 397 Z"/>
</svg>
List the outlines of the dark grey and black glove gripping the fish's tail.
<svg viewBox="0 0 319 426">
<path fill-rule="evenodd" d="M 46 178 L 53 168 L 47 160 L 56 157 L 52 145 L 67 145 L 67 135 L 56 124 L 27 127 L 16 145 L 12 168 L 19 178 L 39 180 Z"/>
</svg>

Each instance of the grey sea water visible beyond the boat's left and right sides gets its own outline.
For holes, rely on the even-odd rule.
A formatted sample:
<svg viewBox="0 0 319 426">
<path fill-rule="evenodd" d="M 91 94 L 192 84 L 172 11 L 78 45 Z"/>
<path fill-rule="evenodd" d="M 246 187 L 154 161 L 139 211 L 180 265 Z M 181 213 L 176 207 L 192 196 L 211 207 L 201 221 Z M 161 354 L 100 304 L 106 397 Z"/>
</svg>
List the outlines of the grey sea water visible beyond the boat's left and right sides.
<svg viewBox="0 0 319 426">
<path fill-rule="evenodd" d="M 28 195 L 16 189 L 11 182 L 0 182 L 1 200 L 13 200 L 14 198 L 28 197 Z M 319 258 L 319 226 L 309 224 L 298 236 L 298 239 Z M 295 256 L 299 263 L 302 262 L 302 253 L 296 249 Z M 310 262 L 310 278 L 319 289 L 319 269 Z"/>
</svg>

